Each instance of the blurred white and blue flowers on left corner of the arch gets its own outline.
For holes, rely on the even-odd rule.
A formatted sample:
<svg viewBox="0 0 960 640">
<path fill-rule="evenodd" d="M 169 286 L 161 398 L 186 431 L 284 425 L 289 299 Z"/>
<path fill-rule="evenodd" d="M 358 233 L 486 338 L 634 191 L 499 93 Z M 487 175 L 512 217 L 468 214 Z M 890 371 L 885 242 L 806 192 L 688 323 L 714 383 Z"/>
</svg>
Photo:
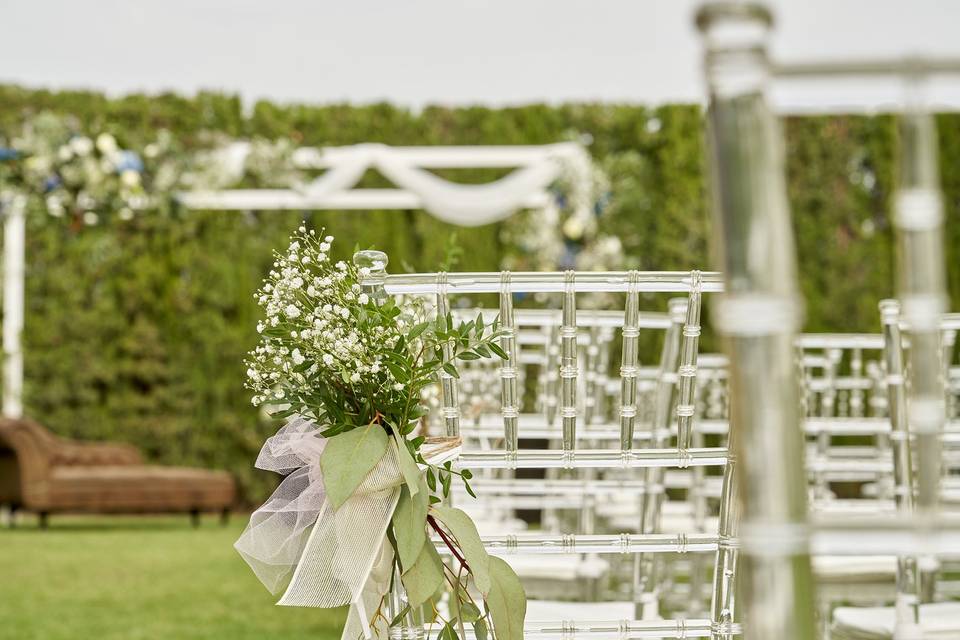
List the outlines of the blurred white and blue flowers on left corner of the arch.
<svg viewBox="0 0 960 640">
<path fill-rule="evenodd" d="M 42 112 L 0 135 L 0 188 L 36 198 L 51 218 L 80 229 L 132 220 L 167 206 L 181 190 L 299 184 L 293 151 L 289 140 L 237 145 L 208 133 L 186 153 L 166 130 L 133 150 L 108 131 L 84 131 L 74 117 Z"/>
</svg>

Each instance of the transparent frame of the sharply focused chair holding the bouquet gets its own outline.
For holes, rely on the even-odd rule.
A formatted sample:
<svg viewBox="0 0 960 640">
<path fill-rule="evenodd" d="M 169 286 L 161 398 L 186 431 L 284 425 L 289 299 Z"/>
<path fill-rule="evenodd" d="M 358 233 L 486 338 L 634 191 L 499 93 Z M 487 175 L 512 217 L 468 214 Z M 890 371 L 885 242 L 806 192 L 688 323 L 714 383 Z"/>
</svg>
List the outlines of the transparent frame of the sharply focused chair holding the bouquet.
<svg viewBox="0 0 960 640">
<path fill-rule="evenodd" d="M 370 262 L 369 259 L 366 262 Z M 716 292 L 722 289 L 721 279 L 715 273 L 700 272 L 605 272 L 575 273 L 572 271 L 557 273 L 433 273 L 411 275 L 386 275 L 386 256 L 375 261 L 381 266 L 371 272 L 371 289 L 377 289 L 378 296 L 384 295 L 425 295 L 435 300 L 435 313 L 438 317 L 446 315 L 451 309 L 450 298 L 460 293 L 499 295 L 499 309 L 502 337 L 501 347 L 507 359 L 500 366 L 501 419 L 503 446 L 499 450 L 471 451 L 465 448 L 457 464 L 472 470 L 477 469 L 639 469 L 644 470 L 643 484 L 647 487 L 661 481 L 662 473 L 668 468 L 691 468 L 698 466 L 728 465 L 728 451 L 725 447 L 691 446 L 692 420 L 696 390 L 696 365 L 698 339 L 700 334 L 700 300 L 704 292 Z M 366 286 L 366 285 L 365 285 Z M 577 295 L 585 292 L 625 293 L 626 304 L 623 311 L 623 345 L 620 366 L 621 401 L 618 409 L 619 439 L 613 448 L 579 448 L 579 427 L 581 426 L 584 402 L 578 399 L 578 389 L 583 393 L 585 387 L 578 387 L 581 375 L 578 362 L 578 326 Z M 662 409 L 658 408 L 658 420 L 665 428 L 652 430 L 652 445 L 647 448 L 634 446 L 637 423 L 636 382 L 639 375 L 637 356 L 637 336 L 640 324 L 641 292 L 685 293 L 685 309 L 682 325 L 678 327 L 676 365 L 676 403 L 673 408 L 676 421 L 676 446 L 663 446 L 670 420 L 673 394 L 671 376 L 660 375 L 663 385 L 661 395 Z M 558 335 L 560 354 L 556 361 L 559 370 L 559 407 L 561 447 L 560 449 L 523 449 L 520 443 L 520 407 L 518 402 L 518 325 L 517 313 L 513 308 L 513 298 L 518 293 L 557 293 L 562 298 Z M 589 317 L 590 312 L 584 315 Z M 679 325 L 679 323 L 678 323 Z M 673 326 L 671 324 L 671 326 Z M 669 331 L 669 328 L 668 328 Z M 452 352 L 445 353 L 452 358 Z M 667 358 L 669 361 L 669 357 Z M 661 367 L 669 366 L 661 362 Z M 671 367 L 672 368 L 672 367 Z M 664 373 L 663 371 L 661 373 Z M 458 381 L 452 375 L 441 375 L 441 412 L 446 435 L 461 435 L 461 415 L 459 405 Z M 667 389 L 666 385 L 671 385 Z M 668 394 L 669 391 L 669 394 Z M 658 405 L 659 407 L 660 405 Z M 585 429 L 585 431 L 587 431 Z M 729 474 L 728 474 L 729 475 Z M 726 478 L 726 477 L 725 477 Z M 514 480 L 514 483 L 521 483 Z M 548 481 L 549 482 L 549 481 Z M 726 484 L 730 484 L 726 479 Z M 581 491 L 594 491 L 602 485 L 594 482 L 584 483 Z M 478 490 L 486 487 L 477 485 Z M 502 490 L 502 486 L 500 489 Z M 497 554 L 555 554 L 555 553 L 597 553 L 630 554 L 649 558 L 662 553 L 707 552 L 716 554 L 718 566 L 717 581 L 721 591 L 715 597 L 717 606 L 715 616 L 710 620 L 621 620 L 607 622 L 579 621 L 529 621 L 525 628 L 525 637 L 608 637 L 616 631 L 618 637 L 732 637 L 739 633 L 739 625 L 733 617 L 733 579 L 736 566 L 735 513 L 732 505 L 733 494 L 725 487 L 721 498 L 721 524 L 726 527 L 716 533 L 655 533 L 657 501 L 649 500 L 643 510 L 646 518 L 636 534 L 558 534 L 558 535 L 502 535 L 485 536 L 485 547 Z M 639 563 L 642 565 L 643 563 Z M 652 569 L 650 569 L 652 572 Z M 394 594 L 399 603 L 402 592 Z M 391 632 L 394 633 L 394 632 Z M 426 628 L 416 620 L 407 620 L 395 631 L 396 637 L 425 637 Z"/>
</svg>

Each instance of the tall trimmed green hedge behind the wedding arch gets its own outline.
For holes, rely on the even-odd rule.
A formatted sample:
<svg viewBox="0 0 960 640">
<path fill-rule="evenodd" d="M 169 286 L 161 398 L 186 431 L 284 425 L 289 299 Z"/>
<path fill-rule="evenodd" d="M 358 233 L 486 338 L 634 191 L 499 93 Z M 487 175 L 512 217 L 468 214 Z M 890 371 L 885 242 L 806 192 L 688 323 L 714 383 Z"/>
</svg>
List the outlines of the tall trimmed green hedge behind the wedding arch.
<svg viewBox="0 0 960 640">
<path fill-rule="evenodd" d="M 76 115 L 135 148 L 158 128 L 186 148 L 201 132 L 290 137 L 306 145 L 537 144 L 592 137 L 612 178 L 601 224 L 622 239 L 629 266 L 709 267 L 701 114 L 692 106 L 569 104 L 427 107 L 277 105 L 246 112 L 235 96 L 127 96 L 0 86 L 0 131 L 42 110 Z M 942 116 L 948 220 L 958 216 L 960 119 Z M 895 123 L 889 117 L 785 122 L 787 172 L 810 330 L 871 331 L 892 291 L 889 203 Z M 465 174 L 462 179 L 482 179 Z M 371 177 L 376 180 L 376 177 Z M 34 212 L 28 231 L 26 407 L 58 433 L 133 442 L 165 463 L 228 468 L 251 497 L 265 480 L 251 462 L 274 427 L 242 388 L 254 344 L 252 293 L 271 251 L 307 219 L 430 270 L 453 229 L 423 212 L 179 212 L 73 230 Z M 461 269 L 496 269 L 498 225 L 461 232 Z M 950 271 L 958 225 L 948 223 Z M 951 277 L 954 297 L 958 279 Z"/>
</svg>

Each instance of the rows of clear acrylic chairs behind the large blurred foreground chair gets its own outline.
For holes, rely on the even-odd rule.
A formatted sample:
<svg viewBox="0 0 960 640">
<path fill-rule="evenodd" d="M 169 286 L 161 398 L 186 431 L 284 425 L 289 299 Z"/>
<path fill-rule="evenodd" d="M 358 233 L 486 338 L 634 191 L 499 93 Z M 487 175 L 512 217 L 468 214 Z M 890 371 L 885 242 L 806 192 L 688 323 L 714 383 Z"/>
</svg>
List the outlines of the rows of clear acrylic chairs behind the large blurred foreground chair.
<svg viewBox="0 0 960 640">
<path fill-rule="evenodd" d="M 728 363 L 699 353 L 701 297 L 719 288 L 714 274 L 441 273 L 381 282 L 387 293 L 429 296 L 440 316 L 501 319 L 509 360 L 461 362 L 459 379 L 444 375 L 427 431 L 464 439 L 460 463 L 474 470 L 478 498 L 456 490 L 452 500 L 524 580 L 531 636 L 557 624 L 577 637 L 611 628 L 626 634 L 617 637 L 739 632 L 728 615 L 737 550 Z M 642 291 L 682 289 L 687 297 L 666 311 L 641 312 Z M 514 309 L 515 297 L 532 291 L 557 308 Z M 578 298 L 594 292 L 624 294 L 623 310 L 579 310 Z M 490 293 L 499 294 L 496 306 L 478 307 Z M 897 461 L 909 458 L 910 443 L 891 411 L 902 403 L 903 386 L 891 380 L 906 374 L 909 341 L 891 329 L 900 324 L 892 304 L 884 303 L 884 333 L 796 341 L 815 512 L 893 513 L 909 490 Z M 946 362 L 955 319 L 944 319 L 945 376 L 955 366 Z M 947 447 L 945 463 L 960 469 L 956 448 Z M 957 485 L 944 486 L 945 500 L 956 502 Z M 896 594 L 892 556 L 819 557 L 815 569 L 824 633 L 837 604 L 883 605 Z M 927 573 L 926 600 L 958 591 Z"/>
</svg>

